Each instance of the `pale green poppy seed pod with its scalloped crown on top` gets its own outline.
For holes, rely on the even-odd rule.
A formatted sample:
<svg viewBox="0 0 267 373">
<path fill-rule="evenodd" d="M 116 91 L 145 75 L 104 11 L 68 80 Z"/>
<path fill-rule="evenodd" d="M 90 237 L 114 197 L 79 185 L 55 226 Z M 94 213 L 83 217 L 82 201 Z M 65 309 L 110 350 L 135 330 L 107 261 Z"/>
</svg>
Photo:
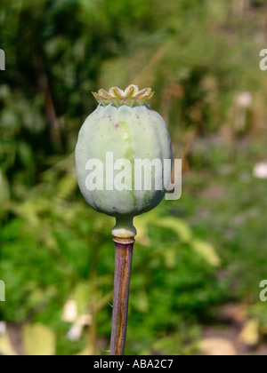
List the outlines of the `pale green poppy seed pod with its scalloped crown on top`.
<svg viewBox="0 0 267 373">
<path fill-rule="evenodd" d="M 169 133 L 147 104 L 153 96 L 150 88 L 114 87 L 93 96 L 99 106 L 77 140 L 78 185 L 94 210 L 117 219 L 114 236 L 134 237 L 134 216 L 157 206 L 170 183 Z"/>
</svg>

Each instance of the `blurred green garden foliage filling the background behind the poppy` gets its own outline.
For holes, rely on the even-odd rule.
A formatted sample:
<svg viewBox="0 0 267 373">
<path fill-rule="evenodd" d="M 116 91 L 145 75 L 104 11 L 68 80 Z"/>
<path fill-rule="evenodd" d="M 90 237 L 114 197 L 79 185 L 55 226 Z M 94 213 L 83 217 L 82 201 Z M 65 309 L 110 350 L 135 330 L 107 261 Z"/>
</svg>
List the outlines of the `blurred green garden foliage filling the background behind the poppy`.
<svg viewBox="0 0 267 373">
<path fill-rule="evenodd" d="M 125 353 L 267 354 L 266 15 L 261 0 L 2 0 L 0 353 L 107 354 L 113 220 L 79 194 L 73 151 L 91 91 L 135 83 L 157 93 L 183 193 L 136 218 Z"/>
</svg>

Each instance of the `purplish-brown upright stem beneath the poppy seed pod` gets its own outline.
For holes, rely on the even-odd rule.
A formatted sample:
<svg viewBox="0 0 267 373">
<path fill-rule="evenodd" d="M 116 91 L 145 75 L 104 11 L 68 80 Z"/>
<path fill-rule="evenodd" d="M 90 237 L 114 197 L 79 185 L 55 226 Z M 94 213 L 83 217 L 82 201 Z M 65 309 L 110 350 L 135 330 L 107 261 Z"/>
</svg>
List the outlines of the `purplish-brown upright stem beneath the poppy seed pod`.
<svg viewBox="0 0 267 373">
<path fill-rule="evenodd" d="M 114 238 L 115 274 L 110 355 L 123 355 L 127 328 L 128 299 L 134 239 Z"/>
</svg>

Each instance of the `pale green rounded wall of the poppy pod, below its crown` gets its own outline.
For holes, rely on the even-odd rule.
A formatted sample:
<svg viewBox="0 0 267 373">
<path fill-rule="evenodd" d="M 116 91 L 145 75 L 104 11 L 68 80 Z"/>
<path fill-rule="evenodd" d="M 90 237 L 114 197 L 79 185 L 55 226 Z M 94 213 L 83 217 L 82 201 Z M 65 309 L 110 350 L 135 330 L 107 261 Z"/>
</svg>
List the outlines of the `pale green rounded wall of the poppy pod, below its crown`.
<svg viewBox="0 0 267 373">
<path fill-rule="evenodd" d="M 129 160 L 132 164 L 132 190 L 106 190 L 106 153 L 113 152 L 113 162 Z M 90 191 L 85 186 L 89 171 L 85 165 L 90 159 L 103 163 L 103 190 Z M 112 234 L 116 237 L 134 237 L 136 230 L 133 218 L 156 207 L 166 194 L 162 190 L 134 190 L 134 160 L 172 159 L 172 149 L 166 123 L 149 105 L 130 107 L 122 105 L 99 105 L 87 117 L 77 140 L 77 181 L 86 202 L 94 210 L 113 216 L 117 225 Z M 114 179 L 121 170 L 113 171 Z M 162 172 L 162 185 L 164 170 Z M 101 177 L 101 175 L 100 175 Z M 152 180 L 155 170 L 152 168 Z M 169 174 L 169 180 L 171 175 Z M 143 187 L 142 187 L 143 188 Z"/>
</svg>

